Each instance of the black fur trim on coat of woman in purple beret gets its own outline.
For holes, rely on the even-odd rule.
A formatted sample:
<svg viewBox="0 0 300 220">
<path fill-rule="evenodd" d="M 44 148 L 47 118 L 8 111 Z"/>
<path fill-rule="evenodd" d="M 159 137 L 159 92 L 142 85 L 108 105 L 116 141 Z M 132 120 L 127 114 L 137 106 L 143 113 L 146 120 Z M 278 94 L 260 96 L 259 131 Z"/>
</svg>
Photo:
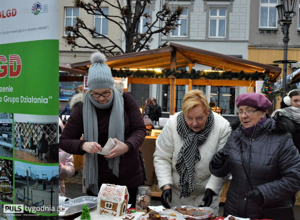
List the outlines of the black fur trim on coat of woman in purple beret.
<svg viewBox="0 0 300 220">
<path fill-rule="evenodd" d="M 266 114 L 267 118 L 271 118 L 271 115 Z M 230 123 L 230 127 L 232 131 L 237 129 L 240 126 L 241 122 L 240 120 L 236 120 L 232 123 Z M 279 133 L 291 133 L 295 127 L 293 126 L 293 123 L 290 122 L 288 118 L 283 117 L 282 120 L 276 121 L 275 126 L 272 128 L 272 132 L 279 132 Z"/>
</svg>

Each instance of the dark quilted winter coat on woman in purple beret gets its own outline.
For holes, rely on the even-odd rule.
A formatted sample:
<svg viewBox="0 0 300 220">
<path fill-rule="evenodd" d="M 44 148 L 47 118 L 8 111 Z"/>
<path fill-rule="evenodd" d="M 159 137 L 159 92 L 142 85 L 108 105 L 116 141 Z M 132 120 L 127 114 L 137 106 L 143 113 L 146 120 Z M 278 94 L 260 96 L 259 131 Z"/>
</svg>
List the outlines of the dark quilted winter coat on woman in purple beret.
<svg viewBox="0 0 300 220">
<path fill-rule="evenodd" d="M 231 135 L 220 150 L 229 154 L 229 158 L 218 168 L 210 162 L 209 170 L 214 176 L 232 175 L 224 216 L 262 218 L 259 204 L 245 200 L 251 186 L 261 192 L 264 207 L 290 204 L 289 197 L 300 190 L 300 156 L 292 136 L 270 115 L 266 117 L 263 125 L 255 125 L 251 138 L 240 123 L 232 125 Z"/>
</svg>

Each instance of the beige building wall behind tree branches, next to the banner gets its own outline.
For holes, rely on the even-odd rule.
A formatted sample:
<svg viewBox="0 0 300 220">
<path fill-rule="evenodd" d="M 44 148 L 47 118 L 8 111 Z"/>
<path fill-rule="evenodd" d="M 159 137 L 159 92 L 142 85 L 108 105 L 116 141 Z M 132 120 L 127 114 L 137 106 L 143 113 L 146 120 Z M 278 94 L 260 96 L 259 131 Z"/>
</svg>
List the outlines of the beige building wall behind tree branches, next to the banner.
<svg viewBox="0 0 300 220">
<path fill-rule="evenodd" d="M 90 58 L 90 55 L 95 50 L 92 49 L 84 49 L 84 48 L 74 48 L 71 51 L 71 47 L 65 42 L 64 38 L 64 26 L 65 26 L 65 8 L 74 7 L 73 1 L 71 0 L 59 0 L 58 1 L 58 16 L 59 16 L 59 62 L 60 63 L 76 63 L 87 61 Z M 114 4 L 114 1 L 111 0 Z M 119 16 L 120 12 L 115 8 L 107 5 L 109 14 Z M 94 17 L 93 15 L 87 14 L 87 12 L 81 8 L 79 8 L 79 17 L 84 21 L 85 25 L 89 28 L 94 26 Z M 109 41 L 102 37 L 91 37 L 91 35 L 86 32 L 85 37 L 92 44 L 102 44 L 102 45 L 110 45 Z M 122 32 L 118 25 L 113 22 L 108 22 L 108 37 L 114 41 L 118 46 L 122 45 Z M 87 45 L 87 43 L 79 38 L 76 40 L 78 44 Z M 117 51 L 117 50 L 116 50 Z"/>
</svg>

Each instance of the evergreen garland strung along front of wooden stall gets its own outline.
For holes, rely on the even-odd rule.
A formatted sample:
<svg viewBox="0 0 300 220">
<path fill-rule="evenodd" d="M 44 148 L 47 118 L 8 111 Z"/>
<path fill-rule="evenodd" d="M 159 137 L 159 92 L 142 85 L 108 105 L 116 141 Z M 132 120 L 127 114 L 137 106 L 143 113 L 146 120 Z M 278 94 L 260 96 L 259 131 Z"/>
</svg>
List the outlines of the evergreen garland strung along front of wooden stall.
<svg viewBox="0 0 300 220">
<path fill-rule="evenodd" d="M 154 70 L 140 70 L 131 71 L 128 68 L 125 69 L 111 69 L 113 77 L 148 77 L 148 78 L 168 78 L 168 76 L 173 75 L 176 79 L 238 79 L 238 80 L 259 80 L 265 78 L 265 73 L 255 72 L 255 73 L 245 73 L 243 70 L 240 72 L 231 72 L 225 71 L 222 73 L 211 71 L 211 72 L 202 72 L 200 70 L 192 69 L 190 72 L 186 70 L 176 71 L 175 69 L 163 69 L 161 72 L 155 72 Z"/>
</svg>

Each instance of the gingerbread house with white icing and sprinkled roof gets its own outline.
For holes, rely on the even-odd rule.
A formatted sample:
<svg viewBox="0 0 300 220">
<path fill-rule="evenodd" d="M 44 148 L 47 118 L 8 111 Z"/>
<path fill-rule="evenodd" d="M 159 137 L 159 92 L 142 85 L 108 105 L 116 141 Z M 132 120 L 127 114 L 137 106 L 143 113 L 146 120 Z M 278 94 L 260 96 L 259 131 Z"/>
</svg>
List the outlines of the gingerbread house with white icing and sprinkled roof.
<svg viewBox="0 0 300 220">
<path fill-rule="evenodd" d="M 102 184 L 97 198 L 97 211 L 100 215 L 118 217 L 126 212 L 128 200 L 126 186 Z"/>
</svg>

